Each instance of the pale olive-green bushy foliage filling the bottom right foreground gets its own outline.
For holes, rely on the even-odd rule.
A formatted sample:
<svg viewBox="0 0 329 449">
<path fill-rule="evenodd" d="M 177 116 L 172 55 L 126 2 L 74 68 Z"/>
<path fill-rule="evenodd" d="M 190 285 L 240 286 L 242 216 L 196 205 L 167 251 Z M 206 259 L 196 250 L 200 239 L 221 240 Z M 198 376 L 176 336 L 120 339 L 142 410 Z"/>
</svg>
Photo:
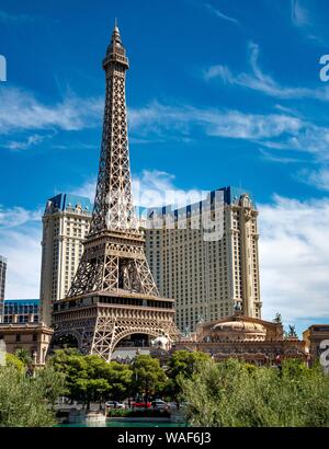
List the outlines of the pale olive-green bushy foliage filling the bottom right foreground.
<svg viewBox="0 0 329 449">
<path fill-rule="evenodd" d="M 329 425 L 329 377 L 320 367 L 284 360 L 282 370 L 229 359 L 197 366 L 182 380 L 192 426 L 306 427 Z"/>
</svg>

